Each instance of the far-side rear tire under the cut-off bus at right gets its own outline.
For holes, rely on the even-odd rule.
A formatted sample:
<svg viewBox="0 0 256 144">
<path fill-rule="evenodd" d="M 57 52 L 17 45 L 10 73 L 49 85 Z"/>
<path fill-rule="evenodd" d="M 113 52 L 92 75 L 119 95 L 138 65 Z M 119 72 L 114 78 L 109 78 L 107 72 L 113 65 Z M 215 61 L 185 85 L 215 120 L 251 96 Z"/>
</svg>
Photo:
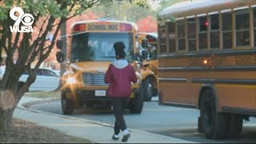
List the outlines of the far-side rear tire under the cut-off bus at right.
<svg viewBox="0 0 256 144">
<path fill-rule="evenodd" d="M 242 133 L 242 115 L 230 114 L 229 138 L 239 138 Z"/>
</svg>

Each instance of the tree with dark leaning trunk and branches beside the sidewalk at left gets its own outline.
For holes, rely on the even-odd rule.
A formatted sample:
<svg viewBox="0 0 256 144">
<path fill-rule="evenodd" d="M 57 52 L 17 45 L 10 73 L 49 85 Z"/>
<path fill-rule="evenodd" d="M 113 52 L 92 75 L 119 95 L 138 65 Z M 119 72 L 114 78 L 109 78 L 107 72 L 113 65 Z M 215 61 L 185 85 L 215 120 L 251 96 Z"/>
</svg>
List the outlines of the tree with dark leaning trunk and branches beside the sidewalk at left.
<svg viewBox="0 0 256 144">
<path fill-rule="evenodd" d="M 15 107 L 22 95 L 34 82 L 38 67 L 49 56 L 54 47 L 58 31 L 66 19 L 81 14 L 91 6 L 99 4 L 100 0 L 6 0 L 0 9 L 0 51 L 6 51 L 6 72 L 0 83 L 0 134 L 11 133 L 11 120 Z M 36 3 L 36 4 L 34 4 Z M 9 17 L 10 7 L 20 6 L 28 14 L 32 14 L 34 32 L 12 33 L 10 26 L 14 20 Z M 14 13 L 18 16 L 19 13 Z M 32 20 L 33 18 L 26 18 Z M 24 20 L 23 20 L 24 21 Z M 32 22 L 32 21 L 30 21 Z M 22 22 L 21 25 L 22 26 Z M 34 36 L 36 33 L 36 36 Z M 52 41 L 47 40 L 47 34 L 53 34 Z M 16 52 L 16 53 L 15 53 Z M 13 59 L 14 54 L 18 54 Z M 1 56 L 2 58 L 2 56 Z M 31 63 L 38 58 L 35 66 Z M 26 82 L 18 79 L 25 72 L 29 77 Z"/>
</svg>

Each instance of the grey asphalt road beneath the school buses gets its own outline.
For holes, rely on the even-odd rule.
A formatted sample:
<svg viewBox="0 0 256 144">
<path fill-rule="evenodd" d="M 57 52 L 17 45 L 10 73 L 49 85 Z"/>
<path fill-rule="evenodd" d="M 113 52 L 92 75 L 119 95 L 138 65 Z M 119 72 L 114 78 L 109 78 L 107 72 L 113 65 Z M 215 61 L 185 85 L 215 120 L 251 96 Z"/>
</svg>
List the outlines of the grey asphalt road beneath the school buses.
<svg viewBox="0 0 256 144">
<path fill-rule="evenodd" d="M 34 105 L 32 108 L 54 114 L 62 114 L 60 101 Z M 251 118 L 245 122 L 241 138 L 213 141 L 198 134 L 198 110 L 159 106 L 158 102 L 145 102 L 142 114 L 126 112 L 127 126 L 131 129 L 145 130 L 174 138 L 181 138 L 191 142 L 256 142 L 256 120 Z M 97 122 L 114 124 L 114 116 L 108 106 L 84 107 L 75 110 L 71 116 L 85 118 Z"/>
</svg>

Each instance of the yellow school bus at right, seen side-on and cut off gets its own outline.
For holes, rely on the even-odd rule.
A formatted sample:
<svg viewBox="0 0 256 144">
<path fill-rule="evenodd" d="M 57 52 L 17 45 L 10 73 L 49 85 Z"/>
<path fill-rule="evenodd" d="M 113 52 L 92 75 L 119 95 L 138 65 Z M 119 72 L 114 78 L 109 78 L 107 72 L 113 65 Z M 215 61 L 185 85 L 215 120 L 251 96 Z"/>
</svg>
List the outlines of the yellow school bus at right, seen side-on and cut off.
<svg viewBox="0 0 256 144">
<path fill-rule="evenodd" d="M 256 1 L 193 0 L 158 14 L 159 103 L 200 110 L 206 138 L 256 116 Z"/>
</svg>

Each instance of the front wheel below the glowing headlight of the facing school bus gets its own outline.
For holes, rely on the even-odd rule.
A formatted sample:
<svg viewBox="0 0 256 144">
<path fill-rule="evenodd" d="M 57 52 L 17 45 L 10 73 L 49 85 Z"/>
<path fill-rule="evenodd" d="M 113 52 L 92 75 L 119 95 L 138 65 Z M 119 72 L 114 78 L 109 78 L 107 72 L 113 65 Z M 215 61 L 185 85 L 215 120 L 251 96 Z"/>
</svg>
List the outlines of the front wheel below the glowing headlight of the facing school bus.
<svg viewBox="0 0 256 144">
<path fill-rule="evenodd" d="M 72 95 L 70 92 L 62 91 L 61 102 L 63 114 L 72 114 L 74 110 Z"/>
</svg>

